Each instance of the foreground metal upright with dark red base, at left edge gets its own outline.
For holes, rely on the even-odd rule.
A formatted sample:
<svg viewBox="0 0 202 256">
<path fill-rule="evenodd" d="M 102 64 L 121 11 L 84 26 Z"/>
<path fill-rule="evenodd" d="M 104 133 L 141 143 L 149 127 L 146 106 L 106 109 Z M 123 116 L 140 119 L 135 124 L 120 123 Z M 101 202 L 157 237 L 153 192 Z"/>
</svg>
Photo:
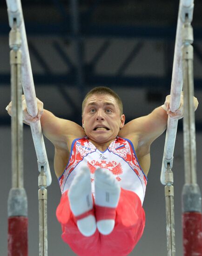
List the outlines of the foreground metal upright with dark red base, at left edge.
<svg viewBox="0 0 202 256">
<path fill-rule="evenodd" d="M 21 106 L 20 13 L 8 9 L 11 65 L 12 189 L 8 195 L 8 256 L 27 256 L 27 195 L 23 188 L 23 123 Z"/>
</svg>

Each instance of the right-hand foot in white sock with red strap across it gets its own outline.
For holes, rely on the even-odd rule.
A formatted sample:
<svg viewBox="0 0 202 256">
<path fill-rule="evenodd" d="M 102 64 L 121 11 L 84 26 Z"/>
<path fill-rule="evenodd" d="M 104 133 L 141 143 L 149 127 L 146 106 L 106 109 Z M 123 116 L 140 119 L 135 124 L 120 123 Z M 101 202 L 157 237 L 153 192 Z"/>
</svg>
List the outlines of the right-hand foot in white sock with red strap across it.
<svg viewBox="0 0 202 256">
<path fill-rule="evenodd" d="M 102 235 L 108 235 L 114 229 L 120 192 L 119 183 L 108 169 L 95 171 L 95 210 L 97 228 Z"/>
</svg>

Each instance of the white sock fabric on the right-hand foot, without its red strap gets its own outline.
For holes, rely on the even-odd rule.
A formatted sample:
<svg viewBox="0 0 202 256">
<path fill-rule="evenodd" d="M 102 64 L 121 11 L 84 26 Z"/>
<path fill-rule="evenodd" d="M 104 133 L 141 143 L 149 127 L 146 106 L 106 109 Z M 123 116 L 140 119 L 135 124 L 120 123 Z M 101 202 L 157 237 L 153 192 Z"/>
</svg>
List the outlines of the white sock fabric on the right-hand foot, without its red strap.
<svg viewBox="0 0 202 256">
<path fill-rule="evenodd" d="M 108 169 L 95 171 L 95 205 L 116 208 L 121 188 L 115 176 Z M 96 206 L 95 206 L 96 207 Z M 108 235 L 114 229 L 114 220 L 101 220 L 97 228 L 102 235 Z"/>
</svg>

